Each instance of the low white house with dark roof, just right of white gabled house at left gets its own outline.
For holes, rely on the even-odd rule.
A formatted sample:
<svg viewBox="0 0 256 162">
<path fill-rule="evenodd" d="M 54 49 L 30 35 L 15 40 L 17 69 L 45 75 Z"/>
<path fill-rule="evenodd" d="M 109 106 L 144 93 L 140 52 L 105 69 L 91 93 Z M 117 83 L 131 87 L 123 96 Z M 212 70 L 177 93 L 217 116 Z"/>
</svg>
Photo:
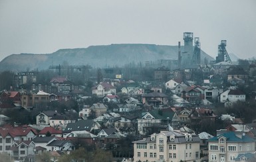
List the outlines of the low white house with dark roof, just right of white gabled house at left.
<svg viewBox="0 0 256 162">
<path fill-rule="evenodd" d="M 53 116 L 50 119 L 50 126 L 52 126 L 54 128 L 57 126 L 66 128 L 66 125 L 68 123 L 74 123 L 74 122 L 76 122 L 76 118 L 74 118 L 74 116 L 69 115 L 69 114 L 61 114 L 61 115 Z"/>
</svg>

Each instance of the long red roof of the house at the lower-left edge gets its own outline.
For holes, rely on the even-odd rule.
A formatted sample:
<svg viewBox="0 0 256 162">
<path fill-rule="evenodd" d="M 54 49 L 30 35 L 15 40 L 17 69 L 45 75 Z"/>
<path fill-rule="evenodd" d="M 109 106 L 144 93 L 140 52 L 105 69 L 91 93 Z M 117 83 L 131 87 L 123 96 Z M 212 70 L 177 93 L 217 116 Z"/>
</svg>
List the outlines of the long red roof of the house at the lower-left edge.
<svg viewBox="0 0 256 162">
<path fill-rule="evenodd" d="M 6 125 L 3 127 L 0 127 L 0 135 L 5 138 L 8 134 L 15 138 L 16 136 L 27 136 L 29 132 L 33 132 L 35 135 L 37 135 L 37 131 L 29 126 L 17 126 L 13 127 L 10 125 Z"/>
</svg>

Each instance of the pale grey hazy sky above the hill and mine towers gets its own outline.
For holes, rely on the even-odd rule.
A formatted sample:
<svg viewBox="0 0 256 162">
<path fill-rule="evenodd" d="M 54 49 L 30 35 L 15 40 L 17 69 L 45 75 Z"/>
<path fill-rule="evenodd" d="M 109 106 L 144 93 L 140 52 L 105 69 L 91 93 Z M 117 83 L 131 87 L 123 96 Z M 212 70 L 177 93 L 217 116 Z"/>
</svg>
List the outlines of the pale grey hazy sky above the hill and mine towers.
<svg viewBox="0 0 256 162">
<path fill-rule="evenodd" d="M 221 40 L 239 58 L 256 57 L 256 1 L 0 0 L 0 60 L 93 45 L 183 45 L 184 32 L 213 58 Z"/>
</svg>

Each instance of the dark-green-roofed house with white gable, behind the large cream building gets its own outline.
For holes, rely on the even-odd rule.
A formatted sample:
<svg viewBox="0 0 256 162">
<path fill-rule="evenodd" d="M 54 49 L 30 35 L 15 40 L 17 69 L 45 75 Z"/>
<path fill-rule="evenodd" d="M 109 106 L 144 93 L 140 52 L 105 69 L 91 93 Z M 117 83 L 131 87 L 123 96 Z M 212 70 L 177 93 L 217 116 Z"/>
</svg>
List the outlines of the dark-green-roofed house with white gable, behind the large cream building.
<svg viewBox="0 0 256 162">
<path fill-rule="evenodd" d="M 166 130 L 168 124 L 173 128 L 178 126 L 178 115 L 171 108 L 151 110 L 142 114 L 142 117 L 137 120 L 138 132 L 142 135 Z"/>
</svg>

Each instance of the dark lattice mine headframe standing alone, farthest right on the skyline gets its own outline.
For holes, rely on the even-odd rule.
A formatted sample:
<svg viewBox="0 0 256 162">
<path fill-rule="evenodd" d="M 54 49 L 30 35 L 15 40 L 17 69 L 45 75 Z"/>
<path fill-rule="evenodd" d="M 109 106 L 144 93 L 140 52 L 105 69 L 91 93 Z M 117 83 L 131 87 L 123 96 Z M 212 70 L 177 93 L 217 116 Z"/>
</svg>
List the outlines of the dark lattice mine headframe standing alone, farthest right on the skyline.
<svg viewBox="0 0 256 162">
<path fill-rule="evenodd" d="M 226 50 L 227 46 L 227 40 L 221 40 L 221 44 L 218 46 L 218 56 L 216 57 L 216 63 L 225 61 L 225 62 L 231 62 L 231 59 L 229 58 L 229 54 L 227 54 Z"/>
</svg>

